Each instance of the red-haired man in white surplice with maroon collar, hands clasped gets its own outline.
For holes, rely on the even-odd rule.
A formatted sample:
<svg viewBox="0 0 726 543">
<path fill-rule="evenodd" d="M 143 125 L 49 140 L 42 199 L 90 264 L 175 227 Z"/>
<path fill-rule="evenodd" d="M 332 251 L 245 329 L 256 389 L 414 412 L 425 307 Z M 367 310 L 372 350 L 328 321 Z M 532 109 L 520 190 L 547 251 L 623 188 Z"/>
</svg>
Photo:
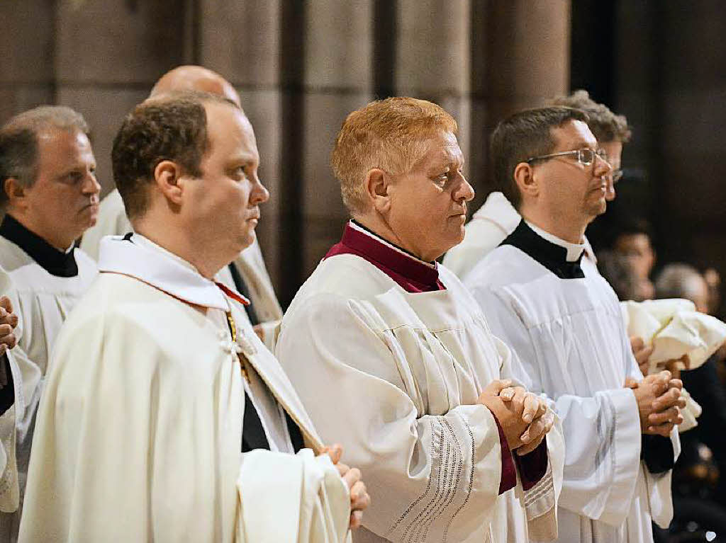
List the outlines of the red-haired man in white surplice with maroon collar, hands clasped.
<svg viewBox="0 0 726 543">
<path fill-rule="evenodd" d="M 278 359 L 323 437 L 366 473 L 359 542 L 556 534 L 550 410 L 500 381 L 512 353 L 435 262 L 461 240 L 473 197 L 456 130 L 417 99 L 348 115 L 333 170 L 353 220 L 282 319 Z"/>
</svg>

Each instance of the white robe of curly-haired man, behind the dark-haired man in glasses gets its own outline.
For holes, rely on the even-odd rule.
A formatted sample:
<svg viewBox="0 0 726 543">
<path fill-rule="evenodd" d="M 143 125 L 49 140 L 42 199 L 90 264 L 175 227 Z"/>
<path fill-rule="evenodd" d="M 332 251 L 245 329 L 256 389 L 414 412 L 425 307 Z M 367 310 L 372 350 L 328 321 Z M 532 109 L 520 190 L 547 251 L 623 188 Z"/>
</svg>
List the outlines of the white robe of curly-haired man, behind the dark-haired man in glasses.
<svg viewBox="0 0 726 543">
<path fill-rule="evenodd" d="M 465 278 L 478 262 L 517 228 L 521 220 L 521 215 L 504 194 L 492 192 L 466 223 L 464 241 L 452 247 L 444 256 L 444 265 L 460 279 Z M 587 238 L 584 245 L 585 255 L 597 262 Z"/>
</svg>

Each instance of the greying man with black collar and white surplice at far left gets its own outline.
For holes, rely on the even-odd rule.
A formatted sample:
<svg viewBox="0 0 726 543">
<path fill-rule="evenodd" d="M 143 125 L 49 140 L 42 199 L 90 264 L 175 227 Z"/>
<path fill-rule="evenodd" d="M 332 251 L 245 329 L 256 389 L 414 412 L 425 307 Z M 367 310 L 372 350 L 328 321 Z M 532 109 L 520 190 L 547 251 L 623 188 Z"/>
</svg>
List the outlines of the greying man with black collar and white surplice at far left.
<svg viewBox="0 0 726 543">
<path fill-rule="evenodd" d="M 57 334 L 97 275 L 96 263 L 75 246 L 98 212 L 96 159 L 83 117 L 68 107 L 36 107 L 0 129 L 0 265 L 23 319 L 15 357 L 45 376 Z M 42 391 L 43 381 L 39 384 Z M 31 394 L 31 397 L 34 394 Z M 32 405 L 28 415 L 32 420 Z M 18 436 L 20 507 L 0 515 L 0 536 L 14 541 L 23 508 L 32 422 Z"/>
</svg>

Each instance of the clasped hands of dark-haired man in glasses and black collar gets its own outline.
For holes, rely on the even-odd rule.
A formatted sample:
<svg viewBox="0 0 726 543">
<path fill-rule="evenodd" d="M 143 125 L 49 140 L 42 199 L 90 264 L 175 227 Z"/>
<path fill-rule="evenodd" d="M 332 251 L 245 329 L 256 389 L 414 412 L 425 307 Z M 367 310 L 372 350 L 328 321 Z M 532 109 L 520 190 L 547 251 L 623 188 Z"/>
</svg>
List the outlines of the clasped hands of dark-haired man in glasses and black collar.
<svg viewBox="0 0 726 543">
<path fill-rule="evenodd" d="M 685 407 L 685 398 L 681 397 L 681 388 L 681 382 L 664 370 L 645 377 L 632 389 L 643 434 L 668 437 L 673 426 L 683 422 L 680 409 Z"/>
</svg>

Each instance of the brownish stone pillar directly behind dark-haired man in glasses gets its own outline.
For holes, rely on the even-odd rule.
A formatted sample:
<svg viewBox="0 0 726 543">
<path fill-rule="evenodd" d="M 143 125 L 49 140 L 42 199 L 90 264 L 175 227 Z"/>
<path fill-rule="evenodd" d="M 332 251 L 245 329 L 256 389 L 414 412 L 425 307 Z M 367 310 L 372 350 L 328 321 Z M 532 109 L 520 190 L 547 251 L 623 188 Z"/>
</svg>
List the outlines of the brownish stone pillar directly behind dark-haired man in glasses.
<svg viewBox="0 0 726 543">
<path fill-rule="evenodd" d="M 570 2 L 512 0 L 471 4 L 470 181 L 476 210 L 491 191 L 489 136 L 518 109 L 568 93 Z"/>
</svg>

